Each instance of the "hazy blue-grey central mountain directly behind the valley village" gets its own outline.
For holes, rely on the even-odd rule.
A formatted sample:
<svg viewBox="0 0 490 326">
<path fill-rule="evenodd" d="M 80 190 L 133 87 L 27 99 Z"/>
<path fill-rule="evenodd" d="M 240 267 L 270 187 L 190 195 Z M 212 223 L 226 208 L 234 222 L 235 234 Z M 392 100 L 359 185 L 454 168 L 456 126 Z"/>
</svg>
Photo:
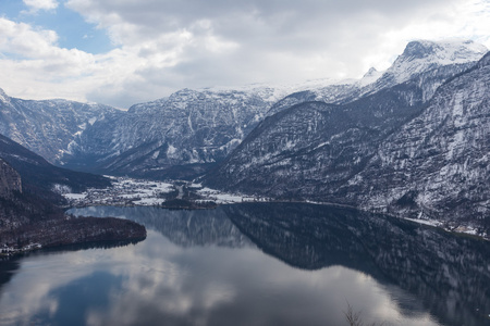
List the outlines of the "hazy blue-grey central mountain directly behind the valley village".
<svg viewBox="0 0 490 326">
<path fill-rule="evenodd" d="M 274 99 L 269 88 L 184 89 L 96 122 L 75 139 L 62 161 L 73 167 L 168 177 L 175 165 L 196 167 L 224 159 Z"/>
</svg>

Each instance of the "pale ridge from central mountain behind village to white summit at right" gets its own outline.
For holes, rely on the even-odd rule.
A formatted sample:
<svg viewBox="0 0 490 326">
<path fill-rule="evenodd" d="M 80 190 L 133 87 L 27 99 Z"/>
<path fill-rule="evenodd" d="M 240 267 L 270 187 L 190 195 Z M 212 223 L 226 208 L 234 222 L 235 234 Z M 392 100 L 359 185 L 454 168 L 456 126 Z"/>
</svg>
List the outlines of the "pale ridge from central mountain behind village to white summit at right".
<svg viewBox="0 0 490 326">
<path fill-rule="evenodd" d="M 222 161 L 265 116 L 309 100 L 351 102 L 407 79 L 417 79 L 414 83 L 421 85 L 425 100 L 485 52 L 485 47 L 471 41 L 415 41 L 385 73 L 371 70 L 360 80 L 183 89 L 97 121 L 75 137 L 60 162 L 70 167 L 154 178 L 193 176 Z"/>
</svg>

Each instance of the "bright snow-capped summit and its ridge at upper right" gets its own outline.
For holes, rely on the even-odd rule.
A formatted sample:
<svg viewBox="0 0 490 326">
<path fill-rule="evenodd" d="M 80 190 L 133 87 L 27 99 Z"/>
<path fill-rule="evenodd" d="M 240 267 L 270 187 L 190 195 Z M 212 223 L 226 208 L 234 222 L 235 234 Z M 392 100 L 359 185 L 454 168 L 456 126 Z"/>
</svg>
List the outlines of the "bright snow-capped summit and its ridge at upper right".
<svg viewBox="0 0 490 326">
<path fill-rule="evenodd" d="M 275 103 L 268 115 L 307 101 L 348 103 L 381 89 L 415 79 L 424 91 L 422 98 L 429 100 L 445 79 L 473 66 L 487 51 L 485 46 L 471 40 L 411 41 L 385 72 L 378 72 L 371 67 L 359 80 L 297 87 L 297 92 Z"/>
</svg>

